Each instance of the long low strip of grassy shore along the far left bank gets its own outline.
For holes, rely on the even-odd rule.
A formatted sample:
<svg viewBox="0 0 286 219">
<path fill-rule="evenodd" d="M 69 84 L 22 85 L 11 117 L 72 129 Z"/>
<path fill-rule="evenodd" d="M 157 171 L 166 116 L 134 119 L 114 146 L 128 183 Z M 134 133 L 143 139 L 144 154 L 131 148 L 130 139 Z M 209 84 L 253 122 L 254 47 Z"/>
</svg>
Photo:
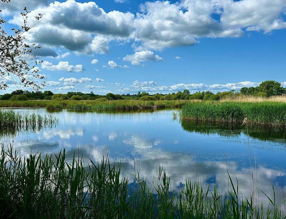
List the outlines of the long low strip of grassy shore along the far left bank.
<svg viewBox="0 0 286 219">
<path fill-rule="evenodd" d="M 180 108 L 186 103 L 197 101 L 142 101 L 142 100 L 112 100 L 112 101 L 54 101 L 54 100 L 31 100 L 31 101 L 0 101 L 1 107 L 23 108 L 37 107 L 48 110 L 74 109 L 83 111 L 105 111 L 105 110 L 136 110 L 152 108 Z"/>
</svg>

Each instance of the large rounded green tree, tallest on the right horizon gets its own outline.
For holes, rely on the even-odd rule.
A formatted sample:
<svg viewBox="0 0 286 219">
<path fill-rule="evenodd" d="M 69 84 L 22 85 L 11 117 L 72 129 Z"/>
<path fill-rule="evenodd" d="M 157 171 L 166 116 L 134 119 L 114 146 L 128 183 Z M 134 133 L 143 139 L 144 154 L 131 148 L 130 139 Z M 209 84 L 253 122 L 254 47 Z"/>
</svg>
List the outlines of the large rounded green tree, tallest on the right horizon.
<svg viewBox="0 0 286 219">
<path fill-rule="evenodd" d="M 278 81 L 267 80 L 260 83 L 258 86 L 259 92 L 265 93 L 267 96 L 278 96 L 285 94 L 286 90 Z"/>
</svg>

